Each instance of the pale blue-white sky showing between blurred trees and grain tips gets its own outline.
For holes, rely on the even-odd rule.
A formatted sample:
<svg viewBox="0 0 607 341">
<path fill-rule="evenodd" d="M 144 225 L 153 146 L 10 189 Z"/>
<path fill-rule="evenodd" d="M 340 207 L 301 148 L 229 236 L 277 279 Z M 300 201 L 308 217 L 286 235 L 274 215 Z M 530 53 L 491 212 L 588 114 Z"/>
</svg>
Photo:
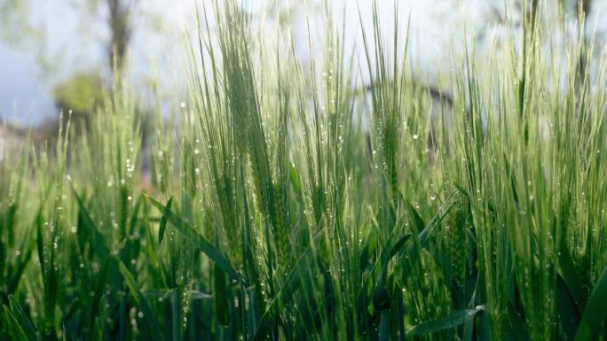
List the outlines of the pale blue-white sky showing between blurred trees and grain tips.
<svg viewBox="0 0 607 341">
<path fill-rule="evenodd" d="M 46 46 L 12 46 L 0 41 L 0 117 L 18 124 L 36 123 L 56 115 L 50 91 L 52 85 L 75 71 L 99 69 L 105 66 L 106 51 L 102 42 L 107 39 L 103 14 L 99 18 L 83 18 L 69 5 L 68 0 L 29 0 L 32 2 L 31 20 L 43 27 Z M 83 0 L 75 0 L 76 3 Z M 210 0 L 202 0 L 209 3 Z M 256 11 L 262 6 L 258 0 L 242 0 L 243 5 Z M 201 1 L 199 1 L 199 4 Z M 346 25 L 354 39 L 359 32 L 359 17 L 353 0 L 333 0 L 335 8 L 346 6 Z M 359 0 L 364 25 L 371 25 L 371 0 Z M 378 1 L 382 22 L 390 25 L 393 1 Z M 400 0 L 402 24 L 411 13 L 412 52 L 422 62 L 422 74 L 432 79 L 448 58 L 447 45 L 461 32 L 461 23 L 474 23 L 480 17 L 482 0 Z M 605 1 L 598 2 L 596 12 L 603 12 Z M 180 33 L 193 20 L 194 0 L 146 0 L 140 2 L 140 11 L 147 13 L 139 18 L 162 18 L 162 34 L 143 19 L 136 19 L 135 35 L 130 45 L 132 78 L 141 84 L 157 74 L 167 90 L 165 100 L 178 103 L 178 95 L 169 89 L 178 89 L 182 70 L 180 52 L 184 44 Z M 152 14 L 150 16 L 150 13 Z M 307 56 L 305 21 L 294 19 L 298 50 Z M 598 18 L 595 18 L 598 19 Z M 404 25 L 402 25 L 404 26 Z M 353 40 L 352 42 L 353 43 Z M 57 67 L 52 72 L 40 66 L 44 56 Z M 154 70 L 156 70 L 154 72 Z M 175 98 L 171 98 L 175 97 Z"/>
</svg>

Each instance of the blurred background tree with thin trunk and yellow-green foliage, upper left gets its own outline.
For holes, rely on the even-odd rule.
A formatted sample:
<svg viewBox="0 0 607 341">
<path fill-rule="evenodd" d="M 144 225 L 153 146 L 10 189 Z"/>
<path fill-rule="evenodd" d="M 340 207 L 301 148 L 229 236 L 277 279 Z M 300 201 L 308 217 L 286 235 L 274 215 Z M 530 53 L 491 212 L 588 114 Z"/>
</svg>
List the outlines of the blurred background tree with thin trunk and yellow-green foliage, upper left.
<svg viewBox="0 0 607 341">
<path fill-rule="evenodd" d="M 102 65 L 106 68 L 70 70 L 71 74 L 67 78 L 51 81 L 51 95 L 57 108 L 68 111 L 76 127 L 88 126 L 87 121 L 91 120 L 91 113 L 99 105 L 103 92 L 108 88 L 107 84 L 112 83 L 104 81 L 104 78 L 111 80 L 123 72 L 136 27 L 133 23 L 134 14 L 141 14 L 140 18 L 145 15 L 143 12 L 137 12 L 138 3 L 138 0 L 63 0 L 65 7 L 74 11 L 74 15 L 82 20 L 78 35 L 83 35 L 82 38 L 88 44 L 86 46 L 100 43 L 102 50 L 106 50 L 106 57 L 102 59 Z M 61 70 L 66 68 L 67 62 L 60 52 L 53 53 L 52 49 L 49 49 L 51 46 L 48 32 L 43 23 L 35 22 L 33 6 L 33 0 L 0 0 L 0 39 L 20 50 L 35 51 L 36 63 L 41 67 L 40 78 L 49 81 L 62 74 Z M 91 40 L 84 33 L 85 26 L 96 23 L 106 27 L 106 39 Z M 107 77 L 104 77 L 104 74 Z M 39 130 L 48 133 L 42 136 L 53 136 L 56 127 L 57 121 L 50 120 L 43 122 Z"/>
</svg>

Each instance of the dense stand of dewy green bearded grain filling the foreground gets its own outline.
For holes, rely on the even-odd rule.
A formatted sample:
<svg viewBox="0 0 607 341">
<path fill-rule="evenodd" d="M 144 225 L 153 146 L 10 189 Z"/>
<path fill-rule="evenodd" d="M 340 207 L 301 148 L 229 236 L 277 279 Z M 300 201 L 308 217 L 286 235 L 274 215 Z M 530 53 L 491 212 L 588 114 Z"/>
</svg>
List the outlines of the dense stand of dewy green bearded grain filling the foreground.
<svg viewBox="0 0 607 341">
<path fill-rule="evenodd" d="M 432 102 L 403 20 L 368 14 L 359 68 L 327 14 L 303 66 L 287 33 L 217 6 L 145 191 L 126 81 L 87 134 L 5 147 L 0 339 L 607 340 L 592 43 L 531 11 L 482 53 L 462 43 Z"/>
</svg>

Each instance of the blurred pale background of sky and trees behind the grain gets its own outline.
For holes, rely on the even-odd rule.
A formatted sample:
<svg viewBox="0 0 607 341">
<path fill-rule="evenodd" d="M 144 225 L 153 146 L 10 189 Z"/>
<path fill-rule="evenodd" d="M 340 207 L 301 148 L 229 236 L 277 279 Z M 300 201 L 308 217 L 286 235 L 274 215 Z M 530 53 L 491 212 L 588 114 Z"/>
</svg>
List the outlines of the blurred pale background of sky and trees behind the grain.
<svg viewBox="0 0 607 341">
<path fill-rule="evenodd" d="M 529 0 L 397 1 L 400 29 L 410 18 L 410 52 L 421 82 L 438 87 L 462 39 L 482 45 L 500 27 L 516 27 L 523 1 Z M 212 9 L 212 0 L 197 3 Z M 390 32 L 394 2 L 377 3 Z M 313 23 L 326 4 L 345 18 L 349 43 L 360 38 L 359 9 L 362 25 L 371 29 L 372 0 L 241 0 L 254 20 L 290 27 L 303 63 L 310 58 L 307 20 L 321 29 Z M 572 27 L 581 9 L 587 34 L 597 32 L 596 50 L 602 50 L 606 0 L 544 5 L 568 13 Z M 168 114 L 183 100 L 185 37 L 193 36 L 186 32 L 193 32 L 195 13 L 194 0 L 0 0 L 0 143 L 28 129 L 41 139 L 55 134 L 61 109 L 86 120 L 111 86 L 113 70 L 130 78 L 142 110 L 155 105 Z M 358 58 L 356 50 L 352 54 Z"/>
</svg>

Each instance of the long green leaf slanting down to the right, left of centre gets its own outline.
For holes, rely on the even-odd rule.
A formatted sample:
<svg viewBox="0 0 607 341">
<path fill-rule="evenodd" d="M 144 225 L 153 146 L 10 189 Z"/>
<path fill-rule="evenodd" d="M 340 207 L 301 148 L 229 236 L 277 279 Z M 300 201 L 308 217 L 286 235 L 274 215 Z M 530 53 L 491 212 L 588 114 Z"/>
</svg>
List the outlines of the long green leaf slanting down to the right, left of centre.
<svg viewBox="0 0 607 341">
<path fill-rule="evenodd" d="M 162 212 L 162 216 L 166 217 L 170 223 L 173 224 L 173 226 L 185 236 L 185 239 L 189 240 L 195 247 L 201 250 L 201 252 L 204 252 L 209 259 L 213 260 L 217 266 L 221 267 L 227 275 L 230 275 L 230 277 L 240 283 L 245 283 L 243 278 L 230 263 L 230 260 L 225 258 L 221 252 L 218 252 L 213 244 L 211 244 L 207 238 L 198 233 L 198 231 L 196 231 L 191 224 L 181 219 L 177 214 L 172 213 L 166 208 L 165 205 L 162 205 L 158 201 L 154 200 L 154 198 L 147 198 L 150 200 L 152 205 Z"/>
</svg>

